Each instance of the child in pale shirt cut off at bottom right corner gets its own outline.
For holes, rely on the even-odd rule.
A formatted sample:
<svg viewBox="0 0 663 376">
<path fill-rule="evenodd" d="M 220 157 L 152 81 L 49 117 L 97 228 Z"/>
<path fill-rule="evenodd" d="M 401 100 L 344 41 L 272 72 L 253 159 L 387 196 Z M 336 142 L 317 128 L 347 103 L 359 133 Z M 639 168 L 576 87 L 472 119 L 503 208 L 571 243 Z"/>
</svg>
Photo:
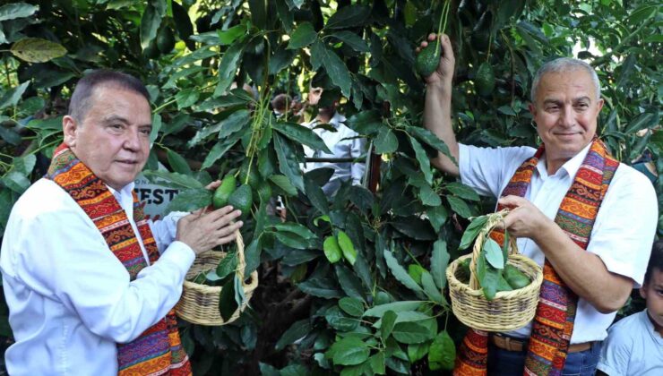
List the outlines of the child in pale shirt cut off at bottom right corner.
<svg viewBox="0 0 663 376">
<path fill-rule="evenodd" d="M 607 330 L 598 375 L 663 375 L 663 240 L 651 250 L 640 295 L 647 308 Z"/>
</svg>

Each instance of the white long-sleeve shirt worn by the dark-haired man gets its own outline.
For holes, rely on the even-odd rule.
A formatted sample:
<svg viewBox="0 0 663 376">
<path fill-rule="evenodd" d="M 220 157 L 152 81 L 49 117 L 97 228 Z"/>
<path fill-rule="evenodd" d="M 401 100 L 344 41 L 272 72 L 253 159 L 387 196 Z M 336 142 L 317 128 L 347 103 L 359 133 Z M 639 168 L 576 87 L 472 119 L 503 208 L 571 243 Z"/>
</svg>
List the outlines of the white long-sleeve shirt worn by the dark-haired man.
<svg viewBox="0 0 663 376">
<path fill-rule="evenodd" d="M 111 192 L 135 228 L 132 190 L 129 184 Z M 195 259 L 188 245 L 174 242 L 182 215 L 151 223 L 161 256 L 130 282 L 69 194 L 47 179 L 33 184 L 12 209 L 0 253 L 16 341 L 5 353 L 7 371 L 116 375 L 116 343 L 132 341 L 161 320 L 182 293 Z"/>
</svg>

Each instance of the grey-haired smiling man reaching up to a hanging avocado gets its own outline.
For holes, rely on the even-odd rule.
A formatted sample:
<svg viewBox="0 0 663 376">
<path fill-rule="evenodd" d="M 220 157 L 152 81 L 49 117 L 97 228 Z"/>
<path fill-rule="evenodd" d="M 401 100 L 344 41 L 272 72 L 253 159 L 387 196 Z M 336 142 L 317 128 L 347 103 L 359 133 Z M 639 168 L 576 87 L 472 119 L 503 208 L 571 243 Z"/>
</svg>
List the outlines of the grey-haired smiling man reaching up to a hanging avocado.
<svg viewBox="0 0 663 376">
<path fill-rule="evenodd" d="M 535 329 L 530 323 L 509 333 L 490 335 L 487 359 L 486 352 L 483 352 L 484 357 L 471 359 L 465 355 L 469 354 L 467 348 L 461 346 L 455 374 L 480 370 L 511 375 L 522 374 L 523 368 L 531 374 L 540 374 L 547 373 L 551 367 L 562 374 L 593 374 L 607 327 L 633 286 L 639 286 L 644 276 L 658 219 L 653 187 L 633 168 L 609 162 L 614 159 L 607 154 L 594 158 L 596 150 L 606 151 L 600 141 L 595 141 L 603 99 L 596 73 L 589 64 L 575 59 L 557 59 L 545 64 L 534 79 L 530 111 L 545 149 L 488 149 L 459 144 L 451 122 L 454 56 L 449 38 L 445 35 L 440 38 L 443 47 L 440 64 L 425 78 L 424 123 L 447 144 L 458 165 L 440 153 L 433 160 L 435 167 L 450 175 L 460 175 L 464 184 L 480 194 L 499 198 L 498 205 L 511 209 L 504 226 L 511 235 L 518 237 L 520 252 L 539 265 L 546 261 L 556 273 L 556 279 L 561 280 L 557 285 L 564 286 L 569 302 L 573 300 L 577 307 L 572 312 L 564 311 L 567 305 L 556 306 L 566 319 L 571 317 L 572 320 L 570 326 L 562 323 L 561 334 L 550 342 L 538 340 L 550 333 L 545 332 L 547 329 L 536 329 L 542 328 L 537 327 L 537 318 L 533 321 Z M 435 40 L 435 36 L 429 36 L 429 40 Z M 616 169 L 609 174 L 607 169 L 590 171 L 587 166 L 595 162 L 594 159 L 601 159 L 606 167 L 613 163 Z M 524 182 L 526 192 L 520 196 L 509 193 L 518 191 L 514 188 L 518 185 L 514 174 L 522 172 L 527 161 L 532 161 L 533 166 L 529 179 Z M 590 208 L 590 217 L 593 216 L 588 221 L 590 236 L 583 239 L 563 229 L 558 220 L 561 205 L 568 202 L 568 195 L 582 186 L 578 185 L 580 170 L 583 174 L 597 172 L 607 179 L 607 184 L 603 180 L 607 192 L 601 192 L 603 195 L 598 198 L 600 206 Z M 598 180 L 598 187 L 604 186 L 601 182 Z M 508 188 L 506 193 L 505 188 Z M 579 245 L 582 242 L 586 251 Z M 544 285 L 547 286 L 546 282 Z M 546 288 L 542 287 L 542 294 L 548 291 Z M 573 295 L 577 295 L 577 300 Z M 541 298 L 539 310 L 541 302 L 547 307 L 555 306 L 556 302 L 548 299 L 556 297 Z M 571 333 L 566 330 L 569 328 Z M 478 333 L 479 337 L 486 335 Z M 552 357 L 534 359 L 541 348 Z M 543 363 L 546 364 L 541 365 Z M 543 368 L 534 369 L 539 365 Z M 562 367 L 564 371 L 555 367 Z"/>
</svg>

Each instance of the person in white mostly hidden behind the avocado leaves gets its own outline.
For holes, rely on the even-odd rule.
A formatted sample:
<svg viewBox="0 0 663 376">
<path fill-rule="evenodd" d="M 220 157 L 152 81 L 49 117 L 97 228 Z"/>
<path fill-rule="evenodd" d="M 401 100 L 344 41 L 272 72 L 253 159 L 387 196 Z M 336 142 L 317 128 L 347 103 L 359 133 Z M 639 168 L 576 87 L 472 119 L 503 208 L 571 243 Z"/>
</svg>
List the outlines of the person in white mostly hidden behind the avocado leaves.
<svg viewBox="0 0 663 376">
<path fill-rule="evenodd" d="M 308 104 L 316 106 L 323 95 L 323 88 L 311 87 L 308 93 Z M 307 128 L 313 130 L 315 134 L 323 139 L 327 149 L 331 153 L 323 150 L 312 150 L 304 145 L 304 152 L 307 158 L 359 158 L 366 151 L 366 140 L 359 134 L 347 127 L 346 118 L 336 111 L 335 104 L 328 107 L 319 107 L 318 115 L 314 120 L 304 124 Z M 329 130 L 319 124 L 329 124 L 334 129 Z M 304 172 L 316 168 L 331 167 L 334 174 L 327 184 L 323 186 L 323 192 L 331 197 L 339 190 L 340 184 L 351 180 L 353 185 L 361 184 L 361 179 L 366 170 L 366 164 L 363 162 L 352 161 L 319 161 L 307 162 L 303 165 Z"/>
</svg>

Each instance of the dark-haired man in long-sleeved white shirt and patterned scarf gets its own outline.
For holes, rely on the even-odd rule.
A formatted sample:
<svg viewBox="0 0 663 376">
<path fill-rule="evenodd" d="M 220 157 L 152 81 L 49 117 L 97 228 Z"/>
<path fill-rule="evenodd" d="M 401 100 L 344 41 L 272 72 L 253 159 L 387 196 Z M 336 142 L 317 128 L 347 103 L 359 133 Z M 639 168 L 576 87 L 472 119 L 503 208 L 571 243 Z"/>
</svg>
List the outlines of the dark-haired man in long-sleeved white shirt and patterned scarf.
<svg viewBox="0 0 663 376">
<path fill-rule="evenodd" d="M 239 210 L 142 218 L 133 180 L 150 154 L 151 108 L 128 74 L 82 78 L 63 130 L 47 177 L 16 202 L 4 232 L 8 372 L 190 374 L 168 312 L 196 254 L 234 239 Z M 143 346 L 150 335 L 157 355 Z"/>
</svg>

